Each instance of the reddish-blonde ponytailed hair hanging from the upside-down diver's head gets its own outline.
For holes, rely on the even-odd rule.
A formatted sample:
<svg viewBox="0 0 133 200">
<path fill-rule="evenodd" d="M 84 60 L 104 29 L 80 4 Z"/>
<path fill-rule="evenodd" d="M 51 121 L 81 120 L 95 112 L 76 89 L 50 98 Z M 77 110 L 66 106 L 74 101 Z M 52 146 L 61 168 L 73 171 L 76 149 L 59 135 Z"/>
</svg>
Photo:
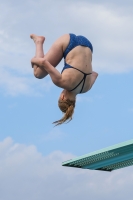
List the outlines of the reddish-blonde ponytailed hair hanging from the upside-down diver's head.
<svg viewBox="0 0 133 200">
<path fill-rule="evenodd" d="M 74 108 L 75 108 L 75 100 L 60 100 L 58 101 L 58 106 L 60 108 L 60 110 L 65 113 L 65 115 L 58 121 L 53 122 L 54 124 L 57 125 L 61 125 L 63 124 L 65 121 L 72 120 L 72 115 L 74 113 Z M 68 122 L 69 122 L 68 121 Z"/>
</svg>

